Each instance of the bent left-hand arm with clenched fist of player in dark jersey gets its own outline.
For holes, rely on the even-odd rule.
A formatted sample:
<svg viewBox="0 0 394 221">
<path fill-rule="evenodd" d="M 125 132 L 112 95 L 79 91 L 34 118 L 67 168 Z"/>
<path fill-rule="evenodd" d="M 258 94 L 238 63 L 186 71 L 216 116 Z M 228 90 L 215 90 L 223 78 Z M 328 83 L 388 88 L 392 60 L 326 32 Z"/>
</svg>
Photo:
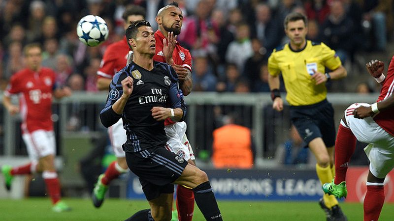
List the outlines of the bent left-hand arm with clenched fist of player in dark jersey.
<svg viewBox="0 0 394 221">
<path fill-rule="evenodd" d="M 104 127 L 112 126 L 122 117 L 132 90 L 133 80 L 130 76 L 126 76 L 122 72 L 114 76 L 110 84 L 107 102 L 100 112 L 100 120 Z"/>
</svg>

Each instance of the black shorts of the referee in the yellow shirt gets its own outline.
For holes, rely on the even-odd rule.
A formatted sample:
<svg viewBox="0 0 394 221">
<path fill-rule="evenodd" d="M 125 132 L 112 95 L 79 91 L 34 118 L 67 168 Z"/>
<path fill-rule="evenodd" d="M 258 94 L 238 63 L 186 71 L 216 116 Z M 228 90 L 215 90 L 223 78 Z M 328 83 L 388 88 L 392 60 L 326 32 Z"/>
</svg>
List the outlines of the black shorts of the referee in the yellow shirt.
<svg viewBox="0 0 394 221">
<path fill-rule="evenodd" d="M 334 109 L 327 100 L 307 106 L 290 106 L 290 117 L 307 144 L 314 138 L 322 138 L 327 147 L 334 146 Z"/>
</svg>

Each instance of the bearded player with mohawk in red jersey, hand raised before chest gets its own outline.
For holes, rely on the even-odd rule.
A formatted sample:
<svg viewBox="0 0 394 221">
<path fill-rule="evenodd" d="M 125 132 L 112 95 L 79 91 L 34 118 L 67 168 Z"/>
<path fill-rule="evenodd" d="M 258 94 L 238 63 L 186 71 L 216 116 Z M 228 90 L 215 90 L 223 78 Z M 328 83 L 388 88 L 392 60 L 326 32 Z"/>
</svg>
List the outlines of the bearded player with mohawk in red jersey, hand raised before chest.
<svg viewBox="0 0 394 221">
<path fill-rule="evenodd" d="M 183 15 L 176 2 L 161 8 L 156 22 L 159 29 L 155 32 L 156 54 L 153 60 L 170 64 L 178 74 L 179 86 L 186 96 L 192 90 L 192 55 L 175 40 L 181 32 Z M 186 137 L 187 125 L 184 121 L 173 122 L 169 118 L 164 121 L 167 135 L 167 149 L 183 157 L 196 166 L 193 149 Z M 194 193 L 189 187 L 178 185 L 176 207 L 180 221 L 191 221 L 194 212 Z"/>
</svg>

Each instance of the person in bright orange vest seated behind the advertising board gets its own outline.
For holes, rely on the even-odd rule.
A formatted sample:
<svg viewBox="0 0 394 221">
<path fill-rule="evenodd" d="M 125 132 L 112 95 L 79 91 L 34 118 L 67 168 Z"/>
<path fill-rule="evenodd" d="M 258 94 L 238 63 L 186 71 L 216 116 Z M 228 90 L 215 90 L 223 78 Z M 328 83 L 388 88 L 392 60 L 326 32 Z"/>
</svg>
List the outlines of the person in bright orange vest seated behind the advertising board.
<svg viewBox="0 0 394 221">
<path fill-rule="evenodd" d="M 250 129 L 236 124 L 234 114 L 225 116 L 223 121 L 224 126 L 213 131 L 213 165 L 215 168 L 252 168 Z"/>
</svg>

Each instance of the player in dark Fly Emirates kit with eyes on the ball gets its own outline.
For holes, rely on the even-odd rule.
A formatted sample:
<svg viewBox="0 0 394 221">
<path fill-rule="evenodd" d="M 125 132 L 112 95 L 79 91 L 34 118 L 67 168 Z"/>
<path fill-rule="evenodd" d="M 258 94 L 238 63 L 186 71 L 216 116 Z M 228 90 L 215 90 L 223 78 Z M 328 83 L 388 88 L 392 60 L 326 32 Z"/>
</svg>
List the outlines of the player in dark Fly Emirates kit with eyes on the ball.
<svg viewBox="0 0 394 221">
<path fill-rule="evenodd" d="M 164 147 L 164 119 L 181 121 L 186 114 L 174 69 L 153 61 L 155 37 L 148 22 L 132 23 L 126 37 L 133 61 L 114 76 L 100 119 L 109 127 L 122 117 L 127 164 L 139 177 L 150 205 L 150 210 L 141 210 L 129 220 L 170 220 L 173 183 L 193 188 L 206 220 L 222 220 L 206 173 Z"/>
</svg>

